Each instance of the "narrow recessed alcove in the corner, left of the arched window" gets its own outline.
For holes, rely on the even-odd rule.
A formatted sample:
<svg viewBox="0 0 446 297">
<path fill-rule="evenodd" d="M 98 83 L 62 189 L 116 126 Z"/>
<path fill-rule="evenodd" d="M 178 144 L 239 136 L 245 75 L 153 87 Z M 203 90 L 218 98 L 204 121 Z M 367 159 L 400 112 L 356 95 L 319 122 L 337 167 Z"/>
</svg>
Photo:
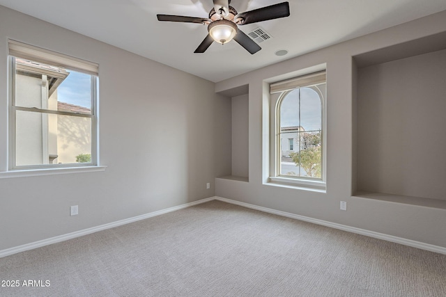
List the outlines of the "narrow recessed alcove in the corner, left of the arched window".
<svg viewBox="0 0 446 297">
<path fill-rule="evenodd" d="M 218 178 L 231 179 L 240 182 L 249 181 L 249 86 L 239 86 L 230 90 L 219 92 L 224 95 L 231 105 L 229 117 L 231 126 L 231 145 L 228 149 L 231 154 L 231 170 Z"/>
</svg>

